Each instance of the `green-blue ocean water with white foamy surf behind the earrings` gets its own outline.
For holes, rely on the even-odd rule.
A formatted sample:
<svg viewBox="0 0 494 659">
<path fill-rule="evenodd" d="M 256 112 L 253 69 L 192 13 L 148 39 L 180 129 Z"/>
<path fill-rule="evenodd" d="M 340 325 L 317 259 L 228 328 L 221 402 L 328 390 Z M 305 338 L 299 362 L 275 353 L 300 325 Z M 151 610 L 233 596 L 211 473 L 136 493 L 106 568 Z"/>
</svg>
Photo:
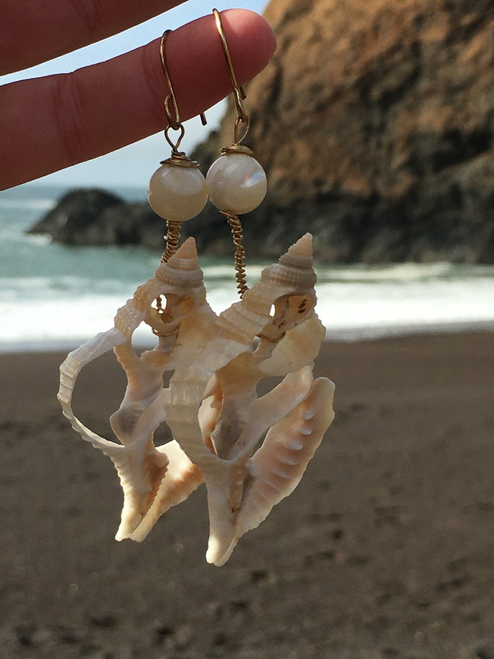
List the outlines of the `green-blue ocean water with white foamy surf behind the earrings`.
<svg viewBox="0 0 494 659">
<path fill-rule="evenodd" d="M 71 247 L 24 235 L 63 192 L 34 184 L 0 192 L 0 351 L 72 349 L 109 329 L 159 262 L 159 250 Z M 142 198 L 142 190 L 115 192 Z M 209 303 L 220 312 L 238 299 L 233 264 L 205 255 L 200 262 Z M 263 265 L 248 265 L 248 283 Z M 330 339 L 494 328 L 494 266 L 316 264 L 316 271 L 317 312 Z M 148 328 L 136 341 L 152 343 Z"/>
</svg>

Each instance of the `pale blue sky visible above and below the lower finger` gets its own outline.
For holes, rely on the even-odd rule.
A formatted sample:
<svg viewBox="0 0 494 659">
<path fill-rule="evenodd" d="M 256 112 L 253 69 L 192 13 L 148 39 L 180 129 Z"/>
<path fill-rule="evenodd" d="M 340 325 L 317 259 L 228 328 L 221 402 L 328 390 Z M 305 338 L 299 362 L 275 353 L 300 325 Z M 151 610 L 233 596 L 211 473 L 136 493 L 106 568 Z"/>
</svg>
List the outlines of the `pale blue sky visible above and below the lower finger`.
<svg viewBox="0 0 494 659">
<path fill-rule="evenodd" d="M 0 85 L 26 78 L 38 78 L 40 76 L 52 75 L 54 73 L 68 73 L 80 67 L 86 67 L 111 57 L 117 57 L 140 45 L 145 45 L 153 39 L 161 36 L 163 30 L 175 30 L 184 23 L 200 18 L 211 13 L 213 6 L 219 11 L 244 7 L 262 13 L 268 0 L 249 0 L 241 5 L 215 0 L 188 0 L 175 9 L 160 14 L 151 20 L 125 30 L 121 34 L 105 39 L 99 43 L 93 43 L 85 48 L 80 48 L 73 53 L 57 57 L 31 69 L 0 76 Z M 194 145 L 207 136 L 206 130 L 217 127 L 225 110 L 224 103 L 218 103 L 207 111 L 207 127 L 201 125 L 200 119 L 190 119 L 184 122 L 186 129 L 182 148 L 186 151 L 192 150 Z M 55 172 L 49 176 L 36 181 L 43 185 L 67 185 L 67 186 L 143 186 L 147 188 L 150 175 L 155 165 L 163 159 L 163 150 L 168 148 L 163 132 L 135 142 L 129 146 L 114 151 L 101 158 L 95 158 L 62 171 Z"/>
</svg>

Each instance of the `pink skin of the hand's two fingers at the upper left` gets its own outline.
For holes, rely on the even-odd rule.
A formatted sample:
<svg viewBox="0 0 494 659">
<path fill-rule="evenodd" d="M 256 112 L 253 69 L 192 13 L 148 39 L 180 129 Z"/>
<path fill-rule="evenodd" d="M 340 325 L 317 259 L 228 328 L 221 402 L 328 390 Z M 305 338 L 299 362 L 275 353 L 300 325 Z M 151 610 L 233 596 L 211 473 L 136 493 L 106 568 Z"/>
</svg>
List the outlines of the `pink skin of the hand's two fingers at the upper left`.
<svg viewBox="0 0 494 659">
<path fill-rule="evenodd" d="M 57 57 L 180 4 L 85 1 L 86 9 L 81 8 L 82 0 L 30 3 L 26 12 L 18 0 L 7 0 L 2 9 L 0 73 Z M 92 5 L 97 5 L 97 13 L 89 9 Z M 265 20 L 252 11 L 231 9 L 222 17 L 238 83 L 244 84 L 267 65 L 275 38 Z M 231 92 L 213 14 L 169 36 L 167 64 L 183 120 Z M 70 74 L 0 87 L 0 189 L 96 158 L 164 129 L 166 95 L 159 39 Z"/>
</svg>

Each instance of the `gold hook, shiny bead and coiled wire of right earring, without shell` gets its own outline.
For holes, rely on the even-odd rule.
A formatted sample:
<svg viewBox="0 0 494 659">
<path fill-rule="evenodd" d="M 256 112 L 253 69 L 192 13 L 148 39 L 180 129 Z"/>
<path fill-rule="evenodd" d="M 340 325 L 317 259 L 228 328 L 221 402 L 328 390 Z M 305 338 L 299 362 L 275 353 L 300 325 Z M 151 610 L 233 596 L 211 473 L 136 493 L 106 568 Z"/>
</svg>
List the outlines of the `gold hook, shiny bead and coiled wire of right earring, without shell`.
<svg viewBox="0 0 494 659">
<path fill-rule="evenodd" d="M 234 127 L 234 142 L 221 149 L 221 156 L 213 162 L 206 175 L 209 199 L 219 212 L 227 217 L 232 228 L 233 243 L 236 246 L 235 270 L 240 297 L 247 290 L 245 277 L 245 250 L 242 244 L 242 223 L 238 215 L 249 213 L 258 208 L 267 190 L 265 171 L 254 158 L 254 152 L 242 144 L 250 127 L 250 120 L 245 111 L 245 90 L 238 86 L 230 51 L 221 22 L 221 14 L 213 9 L 216 27 L 223 45 L 233 86 L 237 118 Z"/>
</svg>

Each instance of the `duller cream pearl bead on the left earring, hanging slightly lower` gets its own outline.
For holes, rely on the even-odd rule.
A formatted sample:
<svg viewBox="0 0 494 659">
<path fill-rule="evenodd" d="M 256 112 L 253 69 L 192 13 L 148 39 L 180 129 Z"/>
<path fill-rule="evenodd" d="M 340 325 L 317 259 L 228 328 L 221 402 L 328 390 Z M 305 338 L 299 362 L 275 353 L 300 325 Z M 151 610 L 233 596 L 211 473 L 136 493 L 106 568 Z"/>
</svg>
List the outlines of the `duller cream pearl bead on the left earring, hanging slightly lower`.
<svg viewBox="0 0 494 659">
<path fill-rule="evenodd" d="M 165 163 L 151 176 L 148 201 L 159 217 L 184 222 L 206 206 L 206 180 L 194 167 Z"/>
</svg>

